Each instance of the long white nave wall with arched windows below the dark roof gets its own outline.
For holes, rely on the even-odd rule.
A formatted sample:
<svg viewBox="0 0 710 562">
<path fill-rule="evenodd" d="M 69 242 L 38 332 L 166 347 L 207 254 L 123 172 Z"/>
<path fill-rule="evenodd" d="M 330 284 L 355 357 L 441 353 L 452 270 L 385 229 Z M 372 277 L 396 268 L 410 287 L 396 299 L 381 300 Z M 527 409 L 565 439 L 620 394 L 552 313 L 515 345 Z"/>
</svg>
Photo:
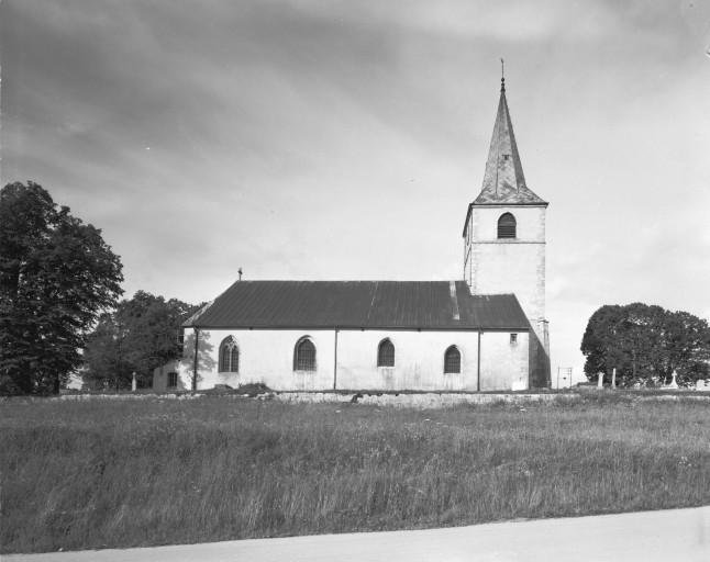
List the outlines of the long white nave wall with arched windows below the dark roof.
<svg viewBox="0 0 710 562">
<path fill-rule="evenodd" d="M 240 372 L 220 373 L 219 346 L 233 336 L 240 348 Z M 293 372 L 293 348 L 309 336 L 317 349 L 315 372 Z M 395 345 L 395 368 L 377 367 L 377 346 L 386 337 Z M 528 387 L 528 333 L 510 344 L 509 333 L 481 335 L 480 390 L 524 390 Z M 456 345 L 462 353 L 462 373 L 444 374 L 444 352 Z M 178 390 L 191 389 L 191 344 L 177 366 Z M 335 376 L 335 330 L 204 330 L 200 335 L 203 358 L 198 390 L 215 384 L 262 382 L 275 391 L 331 390 Z M 478 334 L 476 331 L 339 330 L 337 389 L 476 391 Z M 167 372 L 170 369 L 164 369 Z M 154 379 L 163 391 L 166 376 Z"/>
</svg>

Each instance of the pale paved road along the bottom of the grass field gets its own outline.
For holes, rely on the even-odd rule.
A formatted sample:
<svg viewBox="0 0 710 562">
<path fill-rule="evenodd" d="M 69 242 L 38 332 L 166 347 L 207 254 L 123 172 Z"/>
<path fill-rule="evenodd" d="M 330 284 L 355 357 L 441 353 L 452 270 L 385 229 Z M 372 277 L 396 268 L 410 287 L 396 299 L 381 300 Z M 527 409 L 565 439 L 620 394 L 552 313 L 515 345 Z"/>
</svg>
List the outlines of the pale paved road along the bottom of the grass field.
<svg viewBox="0 0 710 562">
<path fill-rule="evenodd" d="M 415 531 L 12 554 L 3 562 L 710 561 L 710 507 Z"/>
</svg>

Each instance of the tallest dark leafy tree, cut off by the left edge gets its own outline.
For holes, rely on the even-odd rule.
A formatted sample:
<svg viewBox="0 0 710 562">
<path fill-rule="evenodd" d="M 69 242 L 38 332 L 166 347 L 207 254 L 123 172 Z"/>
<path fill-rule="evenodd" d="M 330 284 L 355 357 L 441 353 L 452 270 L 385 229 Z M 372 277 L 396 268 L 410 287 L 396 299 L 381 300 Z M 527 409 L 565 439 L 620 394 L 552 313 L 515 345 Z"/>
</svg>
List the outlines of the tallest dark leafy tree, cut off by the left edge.
<svg viewBox="0 0 710 562">
<path fill-rule="evenodd" d="M 0 190 L 0 392 L 58 393 L 115 305 L 121 261 L 41 186 Z"/>
</svg>

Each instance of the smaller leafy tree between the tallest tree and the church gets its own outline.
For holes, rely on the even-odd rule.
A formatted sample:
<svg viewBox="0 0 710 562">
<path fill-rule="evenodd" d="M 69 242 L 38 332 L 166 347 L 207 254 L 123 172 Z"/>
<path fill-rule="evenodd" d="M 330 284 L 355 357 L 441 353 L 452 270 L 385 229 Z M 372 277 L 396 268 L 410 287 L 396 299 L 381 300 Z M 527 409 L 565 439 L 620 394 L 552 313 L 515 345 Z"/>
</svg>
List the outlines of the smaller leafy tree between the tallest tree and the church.
<svg viewBox="0 0 710 562">
<path fill-rule="evenodd" d="M 85 381 L 95 387 L 122 389 L 135 372 L 141 384 L 148 384 L 156 367 L 181 357 L 178 329 L 198 307 L 145 291 L 121 301 L 89 336 Z"/>
</svg>

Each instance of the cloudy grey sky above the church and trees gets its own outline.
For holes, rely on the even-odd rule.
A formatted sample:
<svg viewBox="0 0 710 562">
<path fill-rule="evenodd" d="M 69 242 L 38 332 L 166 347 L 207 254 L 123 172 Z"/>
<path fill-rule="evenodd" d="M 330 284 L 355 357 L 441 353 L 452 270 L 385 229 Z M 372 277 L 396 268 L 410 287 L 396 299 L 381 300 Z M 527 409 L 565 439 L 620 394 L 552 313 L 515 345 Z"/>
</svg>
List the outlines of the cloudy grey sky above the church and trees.
<svg viewBox="0 0 710 562">
<path fill-rule="evenodd" d="M 463 278 L 506 59 L 547 209 L 553 383 L 589 316 L 710 317 L 710 0 L 2 0 L 1 167 L 125 296 Z"/>
</svg>

